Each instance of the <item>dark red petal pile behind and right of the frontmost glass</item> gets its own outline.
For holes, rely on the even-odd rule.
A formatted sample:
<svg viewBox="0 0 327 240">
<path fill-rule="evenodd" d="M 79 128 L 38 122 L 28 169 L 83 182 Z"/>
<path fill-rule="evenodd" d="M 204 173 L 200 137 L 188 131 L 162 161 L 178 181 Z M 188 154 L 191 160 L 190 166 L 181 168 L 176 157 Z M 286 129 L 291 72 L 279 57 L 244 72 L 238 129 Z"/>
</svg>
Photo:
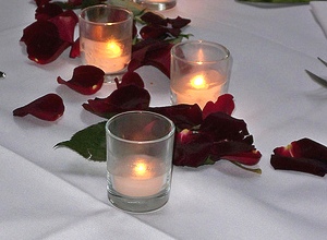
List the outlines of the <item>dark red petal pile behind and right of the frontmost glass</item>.
<svg viewBox="0 0 327 240">
<path fill-rule="evenodd" d="M 198 167 L 226 159 L 241 165 L 256 165 L 262 154 L 253 145 L 244 120 L 231 117 L 234 109 L 230 94 L 208 103 L 204 110 L 197 104 L 149 107 L 150 95 L 137 73 L 129 72 L 107 98 L 95 98 L 84 109 L 110 118 L 129 110 L 148 110 L 171 119 L 175 127 L 173 164 Z"/>
</svg>

